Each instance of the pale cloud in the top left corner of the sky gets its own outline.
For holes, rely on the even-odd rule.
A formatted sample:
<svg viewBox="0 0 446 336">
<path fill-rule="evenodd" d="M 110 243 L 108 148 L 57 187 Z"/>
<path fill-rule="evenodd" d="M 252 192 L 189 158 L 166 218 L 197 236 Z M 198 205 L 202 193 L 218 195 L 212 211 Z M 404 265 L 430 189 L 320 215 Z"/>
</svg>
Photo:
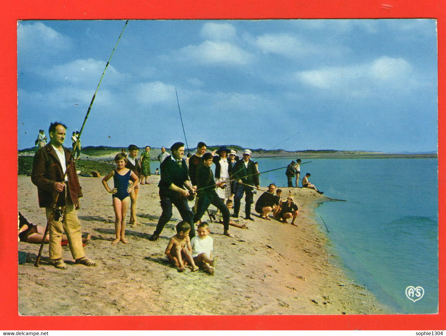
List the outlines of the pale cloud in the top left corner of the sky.
<svg viewBox="0 0 446 336">
<path fill-rule="evenodd" d="M 70 50 L 72 47 L 70 37 L 58 33 L 42 22 L 27 24 L 26 21 L 21 21 L 17 25 L 17 49 L 22 52 L 39 57 L 39 53 L 54 54 Z"/>
</svg>

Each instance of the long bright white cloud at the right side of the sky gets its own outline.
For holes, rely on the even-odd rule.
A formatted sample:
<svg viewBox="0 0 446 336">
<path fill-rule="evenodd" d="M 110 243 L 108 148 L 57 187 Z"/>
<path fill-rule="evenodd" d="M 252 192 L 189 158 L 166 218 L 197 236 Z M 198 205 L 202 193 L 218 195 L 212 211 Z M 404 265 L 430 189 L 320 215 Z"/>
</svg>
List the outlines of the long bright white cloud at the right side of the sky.
<svg viewBox="0 0 446 336">
<path fill-rule="evenodd" d="M 404 89 L 416 84 L 412 66 L 403 58 L 383 56 L 358 66 L 333 67 L 295 73 L 295 77 L 319 89 L 360 92 L 380 86 Z"/>
</svg>

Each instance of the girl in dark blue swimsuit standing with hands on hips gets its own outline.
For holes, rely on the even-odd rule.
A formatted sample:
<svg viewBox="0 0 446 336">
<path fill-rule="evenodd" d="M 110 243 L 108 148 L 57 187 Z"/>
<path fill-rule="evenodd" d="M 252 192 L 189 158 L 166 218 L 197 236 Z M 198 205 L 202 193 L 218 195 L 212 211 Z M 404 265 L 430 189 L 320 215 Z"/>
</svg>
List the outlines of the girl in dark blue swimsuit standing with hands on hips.
<svg viewBox="0 0 446 336">
<path fill-rule="evenodd" d="M 130 200 L 129 193 L 138 185 L 138 176 L 130 169 L 125 168 L 127 163 L 127 156 L 118 154 L 115 156 L 116 169 L 113 169 L 102 179 L 102 184 L 108 193 L 112 194 L 113 209 L 115 210 L 115 234 L 116 239 L 111 242 L 117 244 L 118 242 L 128 243 L 125 238 L 125 217 L 127 216 L 128 203 Z M 108 187 L 107 181 L 113 176 L 113 189 Z M 131 187 L 128 186 L 128 181 L 132 180 Z"/>
</svg>

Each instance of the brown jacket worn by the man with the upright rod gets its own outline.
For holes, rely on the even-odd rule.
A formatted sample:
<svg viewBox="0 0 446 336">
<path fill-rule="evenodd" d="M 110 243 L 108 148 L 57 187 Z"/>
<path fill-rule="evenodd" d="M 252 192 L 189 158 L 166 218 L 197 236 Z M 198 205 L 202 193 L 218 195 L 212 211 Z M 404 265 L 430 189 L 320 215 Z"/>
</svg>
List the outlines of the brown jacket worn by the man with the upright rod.
<svg viewBox="0 0 446 336">
<path fill-rule="evenodd" d="M 68 167 L 71 154 L 67 148 L 63 146 L 62 148 L 65 152 L 65 164 Z M 74 162 L 71 162 L 66 175 L 68 176 L 69 195 L 66 195 L 66 188 L 64 188 L 59 194 L 57 206 L 64 206 L 66 203 L 78 204 L 79 198 L 83 196 Z M 37 186 L 39 207 L 49 207 L 53 203 L 54 195 L 57 194 L 54 192 L 54 184 L 63 181 L 62 165 L 50 143 L 37 150 L 34 155 L 31 181 Z"/>
</svg>

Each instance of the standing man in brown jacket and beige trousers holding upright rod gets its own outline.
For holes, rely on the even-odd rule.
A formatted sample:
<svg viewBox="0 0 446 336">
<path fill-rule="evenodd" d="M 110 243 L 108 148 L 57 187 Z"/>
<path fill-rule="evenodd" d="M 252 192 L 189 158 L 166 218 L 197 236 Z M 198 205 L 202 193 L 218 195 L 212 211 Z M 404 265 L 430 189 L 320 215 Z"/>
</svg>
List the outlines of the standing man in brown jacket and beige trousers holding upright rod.
<svg viewBox="0 0 446 336">
<path fill-rule="evenodd" d="M 50 143 L 37 150 L 34 155 L 31 181 L 37 186 L 39 206 L 45 208 L 46 218 L 50 221 L 50 260 L 59 269 L 67 268 L 62 258 L 62 234 L 65 231 L 70 244 L 70 251 L 77 264 L 96 266 L 87 258 L 82 247 L 81 223 L 76 214 L 80 208 L 79 197 L 82 188 L 79 184 L 76 166 L 70 161 L 70 151 L 62 146 L 65 140 L 66 126 L 62 123 L 51 123 Z M 68 167 L 64 180 L 63 176 Z M 62 216 L 54 216 L 53 203 L 59 194 L 57 209 Z"/>
</svg>

